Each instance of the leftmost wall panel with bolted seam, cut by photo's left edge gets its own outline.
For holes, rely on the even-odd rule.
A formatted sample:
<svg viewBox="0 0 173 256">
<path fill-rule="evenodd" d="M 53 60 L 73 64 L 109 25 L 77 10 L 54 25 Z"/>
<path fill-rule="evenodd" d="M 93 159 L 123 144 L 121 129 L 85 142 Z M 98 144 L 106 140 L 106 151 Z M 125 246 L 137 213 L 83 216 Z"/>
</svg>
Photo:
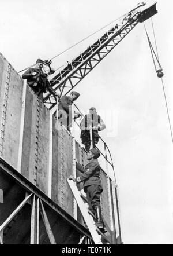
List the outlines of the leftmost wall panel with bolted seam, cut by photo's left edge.
<svg viewBox="0 0 173 256">
<path fill-rule="evenodd" d="M 1 60 L 1 156 L 17 168 L 23 81 L 13 67 Z"/>
</svg>

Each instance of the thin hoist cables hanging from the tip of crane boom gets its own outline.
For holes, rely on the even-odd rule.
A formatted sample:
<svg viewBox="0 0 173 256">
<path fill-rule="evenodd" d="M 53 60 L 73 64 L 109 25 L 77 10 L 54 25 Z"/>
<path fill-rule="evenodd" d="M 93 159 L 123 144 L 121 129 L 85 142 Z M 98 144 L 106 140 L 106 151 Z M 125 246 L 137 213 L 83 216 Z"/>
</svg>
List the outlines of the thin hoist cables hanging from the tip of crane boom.
<svg viewBox="0 0 173 256">
<path fill-rule="evenodd" d="M 156 72 L 157 72 L 157 68 L 156 68 L 156 64 L 155 64 L 155 60 L 154 60 L 154 56 L 153 56 L 153 53 L 155 54 L 155 57 L 156 57 L 156 60 L 159 64 L 159 67 L 161 68 L 161 65 L 160 65 L 160 61 L 159 61 L 159 53 L 158 53 L 158 49 L 157 49 L 157 43 L 156 43 L 156 36 L 155 36 L 155 29 L 154 29 L 154 26 L 153 26 L 153 20 L 152 20 L 152 17 L 151 17 L 151 21 L 152 21 L 152 29 L 153 29 L 153 35 L 154 35 L 154 38 L 155 38 L 155 46 L 156 46 L 156 51 L 157 51 L 157 56 L 156 56 L 156 53 L 155 51 L 153 50 L 153 46 L 151 44 L 151 41 L 149 40 L 149 36 L 148 36 L 148 32 L 146 31 L 146 27 L 145 27 L 145 24 L 144 24 L 144 28 L 145 28 L 145 32 L 146 32 L 146 36 L 148 38 L 148 42 L 149 42 L 149 47 L 151 49 L 151 53 L 152 53 L 152 58 L 153 58 L 153 63 L 155 65 L 155 69 L 156 69 Z M 153 52 L 152 52 L 153 51 Z M 161 68 L 162 70 L 162 68 Z M 162 83 L 162 87 L 163 87 L 163 93 L 164 93 L 164 100 L 165 100 L 165 103 L 166 103 L 166 108 L 167 108 L 167 115 L 168 115 L 168 121 L 169 121 L 169 125 L 170 125 L 170 131 L 171 131 L 171 138 L 172 138 L 172 144 L 173 144 L 173 135 L 172 135 L 172 128 L 171 128 L 171 120 L 170 120 L 170 114 L 169 114 L 169 110 L 168 110 L 168 104 L 167 104 L 167 97 L 166 97 L 166 91 L 164 89 L 164 83 L 163 83 L 163 78 L 161 77 L 161 83 Z"/>
</svg>

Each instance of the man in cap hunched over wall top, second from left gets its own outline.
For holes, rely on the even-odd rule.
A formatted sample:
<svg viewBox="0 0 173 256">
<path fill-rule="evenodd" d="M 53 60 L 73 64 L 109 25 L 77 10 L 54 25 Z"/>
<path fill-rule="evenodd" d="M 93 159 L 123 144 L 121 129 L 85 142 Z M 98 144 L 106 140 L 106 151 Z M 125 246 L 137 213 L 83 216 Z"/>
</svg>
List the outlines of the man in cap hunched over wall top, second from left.
<svg viewBox="0 0 173 256">
<path fill-rule="evenodd" d="M 61 125 L 65 126 L 70 131 L 72 127 L 72 103 L 77 100 L 80 93 L 70 92 L 69 96 L 62 96 L 58 104 L 58 119 Z M 74 117 L 80 117 L 79 112 L 74 112 Z"/>
</svg>

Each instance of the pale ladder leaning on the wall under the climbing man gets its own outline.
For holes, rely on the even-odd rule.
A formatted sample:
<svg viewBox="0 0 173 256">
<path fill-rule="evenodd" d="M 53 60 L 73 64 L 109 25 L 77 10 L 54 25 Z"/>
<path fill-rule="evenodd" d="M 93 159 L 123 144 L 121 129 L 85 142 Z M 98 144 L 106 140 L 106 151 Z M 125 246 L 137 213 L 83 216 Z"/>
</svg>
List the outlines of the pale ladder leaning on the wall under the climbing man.
<svg viewBox="0 0 173 256">
<path fill-rule="evenodd" d="M 95 244 L 110 244 L 107 236 L 104 235 L 99 228 L 97 228 L 95 221 L 93 220 L 92 213 L 86 207 L 83 196 L 81 192 L 78 191 L 76 183 L 73 180 L 69 180 L 69 178 L 67 179 L 67 182 L 69 183 L 74 198 L 76 199 L 78 207 L 80 208 L 82 216 L 84 217 L 86 225 L 88 226 L 89 232 L 93 238 L 93 242 L 95 242 Z"/>
</svg>

